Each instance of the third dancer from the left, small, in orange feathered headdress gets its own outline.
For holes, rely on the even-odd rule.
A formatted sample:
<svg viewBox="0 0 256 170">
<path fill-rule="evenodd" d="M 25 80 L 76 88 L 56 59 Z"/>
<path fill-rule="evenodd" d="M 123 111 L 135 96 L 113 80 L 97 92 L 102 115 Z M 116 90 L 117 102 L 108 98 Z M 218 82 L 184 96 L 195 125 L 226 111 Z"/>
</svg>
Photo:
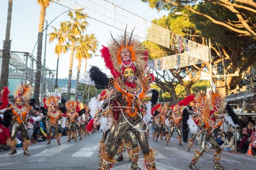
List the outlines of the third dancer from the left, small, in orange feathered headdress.
<svg viewBox="0 0 256 170">
<path fill-rule="evenodd" d="M 77 141 L 77 134 L 76 134 L 76 129 L 78 126 L 78 112 L 79 107 L 78 103 L 74 101 L 67 101 L 65 103 L 66 108 L 67 108 L 67 114 L 66 114 L 66 126 L 68 126 L 68 132 L 67 132 L 67 142 L 70 142 L 70 137 L 71 134 L 75 139 L 75 142 Z M 80 134 L 80 128 L 77 129 L 79 134 Z"/>
</svg>

